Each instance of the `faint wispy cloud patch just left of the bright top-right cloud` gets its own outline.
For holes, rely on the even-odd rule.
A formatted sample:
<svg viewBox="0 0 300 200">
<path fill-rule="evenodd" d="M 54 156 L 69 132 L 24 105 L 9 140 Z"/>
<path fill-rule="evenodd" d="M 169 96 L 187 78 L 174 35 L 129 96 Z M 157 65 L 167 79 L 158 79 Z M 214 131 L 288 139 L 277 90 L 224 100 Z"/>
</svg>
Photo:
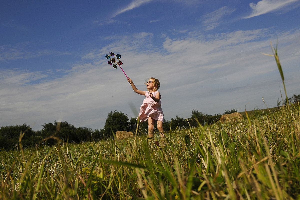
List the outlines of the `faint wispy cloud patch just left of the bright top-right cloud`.
<svg viewBox="0 0 300 200">
<path fill-rule="evenodd" d="M 204 15 L 202 23 L 206 26 L 206 30 L 211 30 L 216 28 L 219 23 L 223 21 L 224 17 L 231 15 L 235 10 L 235 8 L 229 8 L 228 6 L 221 7 L 218 10 Z"/>
</svg>

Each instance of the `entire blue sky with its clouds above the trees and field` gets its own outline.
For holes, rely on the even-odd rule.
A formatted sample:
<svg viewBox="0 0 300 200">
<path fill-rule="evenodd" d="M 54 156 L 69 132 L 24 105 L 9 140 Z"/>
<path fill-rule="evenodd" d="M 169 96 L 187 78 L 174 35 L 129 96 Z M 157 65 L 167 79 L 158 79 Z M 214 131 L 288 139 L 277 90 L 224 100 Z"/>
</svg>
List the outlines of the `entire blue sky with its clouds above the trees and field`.
<svg viewBox="0 0 300 200">
<path fill-rule="evenodd" d="M 300 0 L 1 1 L 0 126 L 54 121 L 100 129 L 136 117 L 138 89 L 160 80 L 166 120 L 276 107 L 300 94 Z M 264 102 L 263 102 L 263 100 Z"/>
</svg>

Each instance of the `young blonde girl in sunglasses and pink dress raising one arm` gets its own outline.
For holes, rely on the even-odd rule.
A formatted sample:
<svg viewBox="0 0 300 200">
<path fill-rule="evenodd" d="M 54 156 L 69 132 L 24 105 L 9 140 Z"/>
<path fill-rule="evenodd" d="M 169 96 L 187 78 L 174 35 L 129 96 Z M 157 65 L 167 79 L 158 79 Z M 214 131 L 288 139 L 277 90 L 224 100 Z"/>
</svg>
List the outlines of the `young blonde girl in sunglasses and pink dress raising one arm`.
<svg viewBox="0 0 300 200">
<path fill-rule="evenodd" d="M 161 109 L 161 94 L 159 91 L 157 91 L 161 86 L 158 79 L 153 77 L 149 78 L 148 82 L 145 83 L 147 85 L 147 91 L 138 90 L 130 78 L 127 80 L 134 92 L 146 96 L 140 108 L 139 117 L 137 119 L 140 119 L 141 122 L 148 120 L 148 136 L 150 138 L 153 137 L 154 124 L 155 121 L 157 121 L 157 129 L 160 132 L 161 137 L 164 137 L 164 113 Z"/>
</svg>

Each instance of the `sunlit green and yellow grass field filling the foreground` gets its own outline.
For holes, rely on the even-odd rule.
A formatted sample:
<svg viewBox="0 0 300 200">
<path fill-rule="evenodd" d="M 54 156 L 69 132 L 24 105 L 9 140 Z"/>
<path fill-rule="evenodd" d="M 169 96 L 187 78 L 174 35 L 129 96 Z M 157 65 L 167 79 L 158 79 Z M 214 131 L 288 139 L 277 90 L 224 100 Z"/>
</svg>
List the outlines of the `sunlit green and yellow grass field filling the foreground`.
<svg viewBox="0 0 300 200">
<path fill-rule="evenodd" d="M 141 136 L 1 151 L 0 199 L 299 199 L 299 110 L 156 135 L 160 147 Z"/>
</svg>

